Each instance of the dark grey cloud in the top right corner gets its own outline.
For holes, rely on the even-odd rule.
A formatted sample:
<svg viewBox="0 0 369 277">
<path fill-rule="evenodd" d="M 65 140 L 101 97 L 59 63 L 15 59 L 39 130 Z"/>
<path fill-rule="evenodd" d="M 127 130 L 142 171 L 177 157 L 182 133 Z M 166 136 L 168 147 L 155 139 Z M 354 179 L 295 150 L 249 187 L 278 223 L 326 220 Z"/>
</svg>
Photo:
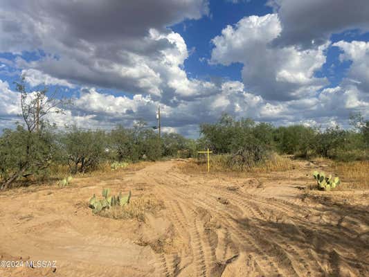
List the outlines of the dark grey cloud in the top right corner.
<svg viewBox="0 0 369 277">
<path fill-rule="evenodd" d="M 367 0 L 269 0 L 283 30 L 273 43 L 279 46 L 314 48 L 325 44 L 332 33 L 353 28 L 369 30 Z"/>
</svg>

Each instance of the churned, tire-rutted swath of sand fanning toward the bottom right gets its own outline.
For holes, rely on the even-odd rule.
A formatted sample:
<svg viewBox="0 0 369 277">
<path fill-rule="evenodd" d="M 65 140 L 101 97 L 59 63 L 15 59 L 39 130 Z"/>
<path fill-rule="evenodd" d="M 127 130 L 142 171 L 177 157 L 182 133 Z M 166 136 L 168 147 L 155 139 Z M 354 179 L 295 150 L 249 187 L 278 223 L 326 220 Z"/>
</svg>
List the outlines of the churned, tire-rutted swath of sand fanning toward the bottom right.
<svg viewBox="0 0 369 277">
<path fill-rule="evenodd" d="M 334 211 L 322 214 L 297 195 L 264 197 L 228 190 L 215 177 L 188 177 L 162 164 L 145 181 L 163 199 L 177 235 L 188 248 L 158 276 L 365 276 L 368 247 L 354 231 L 339 230 Z M 210 179 L 210 181 L 208 181 Z M 278 194 L 278 191 L 276 191 Z M 312 215 L 315 220 L 312 220 Z M 332 219 L 330 219 L 332 215 Z M 368 219 L 368 217 L 366 217 Z M 330 222 L 330 220 L 332 220 Z M 164 274 L 161 272 L 164 271 Z"/>
</svg>

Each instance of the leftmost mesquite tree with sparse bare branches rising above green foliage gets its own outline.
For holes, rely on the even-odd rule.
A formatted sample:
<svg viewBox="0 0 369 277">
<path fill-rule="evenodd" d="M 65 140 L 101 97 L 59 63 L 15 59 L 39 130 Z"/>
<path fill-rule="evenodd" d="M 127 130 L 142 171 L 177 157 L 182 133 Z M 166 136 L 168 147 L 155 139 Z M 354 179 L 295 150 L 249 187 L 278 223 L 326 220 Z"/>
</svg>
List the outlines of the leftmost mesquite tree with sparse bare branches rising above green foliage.
<svg viewBox="0 0 369 277">
<path fill-rule="evenodd" d="M 56 98 L 57 91 L 48 93 L 43 87 L 27 91 L 25 78 L 15 83 L 20 94 L 21 116 L 24 125 L 16 130 L 4 130 L 0 139 L 0 189 L 5 189 L 19 177 L 34 175 L 48 168 L 53 157 L 53 136 L 46 115 L 62 113 L 65 100 Z"/>
</svg>

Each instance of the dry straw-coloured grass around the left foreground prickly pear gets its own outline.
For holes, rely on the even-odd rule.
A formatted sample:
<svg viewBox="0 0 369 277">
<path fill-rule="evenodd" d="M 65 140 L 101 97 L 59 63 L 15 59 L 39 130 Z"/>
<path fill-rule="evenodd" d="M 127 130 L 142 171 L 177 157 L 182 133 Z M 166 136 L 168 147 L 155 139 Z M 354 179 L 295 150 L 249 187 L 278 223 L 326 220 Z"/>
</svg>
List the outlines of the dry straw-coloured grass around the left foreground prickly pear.
<svg viewBox="0 0 369 277">
<path fill-rule="evenodd" d="M 114 218 L 115 220 L 130 220 L 145 221 L 145 213 L 156 213 L 164 208 L 161 200 L 154 195 L 145 195 L 138 198 L 132 198 L 129 204 L 121 207 L 102 210 L 98 215 L 102 217 Z"/>
</svg>

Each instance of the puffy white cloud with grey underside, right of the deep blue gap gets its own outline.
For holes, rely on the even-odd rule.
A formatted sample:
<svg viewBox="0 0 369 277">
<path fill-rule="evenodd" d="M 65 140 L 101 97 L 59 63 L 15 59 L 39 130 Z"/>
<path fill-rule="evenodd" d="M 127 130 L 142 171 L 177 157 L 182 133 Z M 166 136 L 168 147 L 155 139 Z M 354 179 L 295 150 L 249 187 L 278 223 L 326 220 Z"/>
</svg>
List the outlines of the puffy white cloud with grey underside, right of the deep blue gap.
<svg viewBox="0 0 369 277">
<path fill-rule="evenodd" d="M 267 100 L 293 100 L 314 95 L 327 84 L 314 73 L 325 63 L 328 44 L 300 51 L 295 46 L 274 48 L 270 43 L 282 27 L 278 15 L 244 17 L 235 26 L 226 26 L 215 37 L 210 64 L 244 64 L 245 87 Z"/>
</svg>

